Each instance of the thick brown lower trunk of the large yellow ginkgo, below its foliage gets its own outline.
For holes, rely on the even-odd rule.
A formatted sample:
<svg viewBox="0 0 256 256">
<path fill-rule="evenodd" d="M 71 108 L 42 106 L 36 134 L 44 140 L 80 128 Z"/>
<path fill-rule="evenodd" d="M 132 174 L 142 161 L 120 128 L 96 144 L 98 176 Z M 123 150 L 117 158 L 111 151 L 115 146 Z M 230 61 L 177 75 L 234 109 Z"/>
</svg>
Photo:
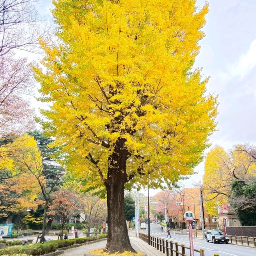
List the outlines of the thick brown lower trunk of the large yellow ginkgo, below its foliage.
<svg viewBox="0 0 256 256">
<path fill-rule="evenodd" d="M 131 244 L 126 226 L 124 210 L 124 179 L 113 176 L 108 178 L 106 185 L 108 202 L 108 253 L 136 252 Z"/>
</svg>

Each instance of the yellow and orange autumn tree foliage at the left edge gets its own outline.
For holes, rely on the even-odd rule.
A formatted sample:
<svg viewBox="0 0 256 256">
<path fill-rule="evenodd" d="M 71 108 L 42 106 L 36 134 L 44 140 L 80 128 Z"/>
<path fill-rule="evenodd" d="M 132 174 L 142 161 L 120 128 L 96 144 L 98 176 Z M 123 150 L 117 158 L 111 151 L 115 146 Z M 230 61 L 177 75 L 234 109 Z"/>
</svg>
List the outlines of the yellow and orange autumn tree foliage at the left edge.
<svg viewBox="0 0 256 256">
<path fill-rule="evenodd" d="M 42 203 L 37 200 L 41 190 L 36 177 L 28 168 L 17 162 L 18 158 L 23 157 L 27 162 L 31 160 L 27 150 L 28 143 L 22 138 L 23 136 L 0 148 L 5 156 L 0 158 L 0 216 L 7 217 L 14 212 L 22 213 L 27 209 L 36 209 L 38 204 Z"/>
</svg>

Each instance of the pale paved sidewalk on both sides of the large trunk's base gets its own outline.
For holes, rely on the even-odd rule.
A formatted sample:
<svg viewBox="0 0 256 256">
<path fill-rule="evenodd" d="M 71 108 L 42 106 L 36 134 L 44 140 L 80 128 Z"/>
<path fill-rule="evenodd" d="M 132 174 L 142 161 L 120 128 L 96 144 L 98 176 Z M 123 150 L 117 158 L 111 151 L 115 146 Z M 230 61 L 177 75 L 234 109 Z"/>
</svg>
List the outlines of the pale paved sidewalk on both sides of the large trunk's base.
<svg viewBox="0 0 256 256">
<path fill-rule="evenodd" d="M 142 241 L 140 238 L 135 236 L 135 231 L 129 231 L 129 238 L 132 244 L 132 247 L 136 251 L 145 252 L 148 256 L 162 256 L 163 253 L 156 250 L 152 246 L 149 246 L 146 242 Z M 106 246 L 107 241 L 99 241 L 93 244 L 86 244 L 84 246 L 73 248 L 64 251 L 64 256 L 84 256 L 84 253 L 90 250 L 96 250 L 100 248 L 104 248 Z"/>
</svg>

